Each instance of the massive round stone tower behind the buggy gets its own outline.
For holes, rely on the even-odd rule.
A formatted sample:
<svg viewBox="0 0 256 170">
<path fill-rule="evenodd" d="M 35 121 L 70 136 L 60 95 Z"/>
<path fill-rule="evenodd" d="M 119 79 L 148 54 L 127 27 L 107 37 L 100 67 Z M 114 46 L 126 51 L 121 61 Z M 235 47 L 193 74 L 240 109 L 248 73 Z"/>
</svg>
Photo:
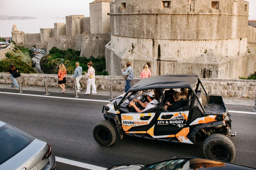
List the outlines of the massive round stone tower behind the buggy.
<svg viewBox="0 0 256 170">
<path fill-rule="evenodd" d="M 112 1 L 107 70 L 120 75 L 131 61 L 140 75 L 151 61 L 153 75 L 220 78 L 220 65 L 246 53 L 248 9 L 244 0 Z"/>
</svg>

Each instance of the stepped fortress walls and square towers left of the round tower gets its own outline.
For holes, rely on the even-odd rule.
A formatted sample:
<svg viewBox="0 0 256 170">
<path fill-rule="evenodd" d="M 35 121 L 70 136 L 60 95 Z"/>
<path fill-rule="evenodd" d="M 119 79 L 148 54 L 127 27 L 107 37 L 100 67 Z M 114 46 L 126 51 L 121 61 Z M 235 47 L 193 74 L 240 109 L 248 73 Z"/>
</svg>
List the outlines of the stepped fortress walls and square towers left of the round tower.
<svg viewBox="0 0 256 170">
<path fill-rule="evenodd" d="M 96 0 L 90 3 L 92 19 L 84 15 L 70 15 L 66 16 L 66 23 L 54 23 L 54 28 L 40 28 L 40 34 L 28 34 L 32 40 L 29 43 L 26 34 L 18 31 L 14 24 L 13 40 L 17 45 L 47 48 L 47 53 L 52 47 L 57 47 L 81 50 L 80 56 L 85 57 L 104 56 L 105 45 L 110 41 L 110 1 Z"/>
</svg>

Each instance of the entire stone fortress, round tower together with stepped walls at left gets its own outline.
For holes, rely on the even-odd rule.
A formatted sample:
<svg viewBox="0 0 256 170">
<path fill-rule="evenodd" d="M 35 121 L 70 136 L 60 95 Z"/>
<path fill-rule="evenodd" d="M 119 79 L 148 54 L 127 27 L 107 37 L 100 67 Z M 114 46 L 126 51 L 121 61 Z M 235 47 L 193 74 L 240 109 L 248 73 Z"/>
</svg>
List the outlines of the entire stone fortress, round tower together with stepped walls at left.
<svg viewBox="0 0 256 170">
<path fill-rule="evenodd" d="M 56 46 L 81 50 L 85 57 L 105 55 L 110 75 L 120 75 L 126 61 L 136 76 L 147 61 L 153 75 L 236 79 L 256 68 L 254 45 L 247 44 L 256 39 L 256 28 L 247 26 L 247 1 L 95 0 L 89 6 L 90 17 L 66 16 L 66 23 L 40 29 L 34 44 L 47 52 Z M 15 30 L 13 40 L 28 45 Z"/>
</svg>

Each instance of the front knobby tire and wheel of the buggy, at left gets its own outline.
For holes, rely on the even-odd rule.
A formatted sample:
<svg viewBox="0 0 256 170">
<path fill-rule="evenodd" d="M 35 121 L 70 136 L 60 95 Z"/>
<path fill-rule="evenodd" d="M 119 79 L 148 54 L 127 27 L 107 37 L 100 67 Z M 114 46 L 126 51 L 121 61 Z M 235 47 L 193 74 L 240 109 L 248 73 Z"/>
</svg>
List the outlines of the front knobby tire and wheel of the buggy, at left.
<svg viewBox="0 0 256 170">
<path fill-rule="evenodd" d="M 117 130 L 110 121 L 102 120 L 94 126 L 93 137 L 101 146 L 110 146 L 116 141 Z"/>
</svg>

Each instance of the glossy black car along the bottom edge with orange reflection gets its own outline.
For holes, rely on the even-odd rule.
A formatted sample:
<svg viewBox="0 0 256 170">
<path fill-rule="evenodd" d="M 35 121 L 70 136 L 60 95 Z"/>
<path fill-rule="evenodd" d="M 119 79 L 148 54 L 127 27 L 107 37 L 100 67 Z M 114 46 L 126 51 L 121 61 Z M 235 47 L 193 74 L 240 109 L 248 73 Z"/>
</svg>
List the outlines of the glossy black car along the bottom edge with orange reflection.
<svg viewBox="0 0 256 170">
<path fill-rule="evenodd" d="M 232 164 L 227 162 L 220 162 L 209 159 L 198 159 L 198 158 L 175 158 L 157 162 L 153 164 L 126 164 L 117 165 L 107 170 L 194 170 L 194 169 L 206 169 L 206 170 L 255 170 L 238 164 Z"/>
</svg>

